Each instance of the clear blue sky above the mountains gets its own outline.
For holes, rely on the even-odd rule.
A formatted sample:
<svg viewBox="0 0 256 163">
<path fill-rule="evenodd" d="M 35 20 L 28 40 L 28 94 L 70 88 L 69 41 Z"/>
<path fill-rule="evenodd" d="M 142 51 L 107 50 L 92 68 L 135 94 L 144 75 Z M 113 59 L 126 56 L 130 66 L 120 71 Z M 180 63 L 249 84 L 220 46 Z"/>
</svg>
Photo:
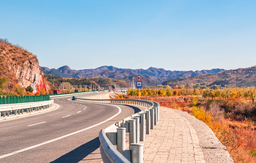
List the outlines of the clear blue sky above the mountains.
<svg viewBox="0 0 256 163">
<path fill-rule="evenodd" d="M 1 0 L 0 38 L 49 68 L 251 67 L 256 0 Z"/>
</svg>

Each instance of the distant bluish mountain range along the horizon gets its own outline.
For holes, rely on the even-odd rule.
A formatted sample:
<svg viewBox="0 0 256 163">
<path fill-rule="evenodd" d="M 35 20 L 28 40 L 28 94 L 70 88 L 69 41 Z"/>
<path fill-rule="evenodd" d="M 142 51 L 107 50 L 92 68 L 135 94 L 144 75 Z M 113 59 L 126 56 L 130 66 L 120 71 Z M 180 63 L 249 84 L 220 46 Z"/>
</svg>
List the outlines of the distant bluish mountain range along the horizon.
<svg viewBox="0 0 256 163">
<path fill-rule="evenodd" d="M 163 68 L 149 67 L 148 69 L 125 69 L 113 66 L 102 66 L 95 69 L 73 70 L 68 66 L 59 67 L 57 69 L 49 67 L 41 67 L 45 74 L 55 75 L 59 77 L 73 77 L 73 78 L 115 78 L 129 82 L 133 77 L 138 75 L 143 76 L 143 86 L 154 86 L 161 84 L 170 79 L 192 77 L 196 75 L 224 72 L 224 69 L 211 69 L 201 71 L 170 71 Z"/>
</svg>

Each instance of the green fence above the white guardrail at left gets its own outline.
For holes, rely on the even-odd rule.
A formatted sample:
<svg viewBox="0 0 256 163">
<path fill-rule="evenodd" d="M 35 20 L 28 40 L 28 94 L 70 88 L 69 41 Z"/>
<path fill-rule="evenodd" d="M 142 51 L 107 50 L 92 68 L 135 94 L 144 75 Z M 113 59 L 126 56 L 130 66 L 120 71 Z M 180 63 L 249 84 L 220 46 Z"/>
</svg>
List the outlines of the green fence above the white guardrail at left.
<svg viewBox="0 0 256 163">
<path fill-rule="evenodd" d="M 16 104 L 16 103 L 25 103 L 25 102 L 39 102 L 39 101 L 48 101 L 50 100 L 49 95 L 40 95 L 40 96 L 3 96 L 0 97 L 1 104 Z"/>
</svg>

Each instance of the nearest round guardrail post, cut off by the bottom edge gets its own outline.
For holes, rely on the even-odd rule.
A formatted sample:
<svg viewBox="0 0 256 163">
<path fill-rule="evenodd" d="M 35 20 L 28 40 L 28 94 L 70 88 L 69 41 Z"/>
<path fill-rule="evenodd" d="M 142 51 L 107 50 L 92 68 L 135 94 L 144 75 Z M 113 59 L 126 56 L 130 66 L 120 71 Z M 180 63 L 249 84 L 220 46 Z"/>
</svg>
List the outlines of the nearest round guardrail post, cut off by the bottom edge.
<svg viewBox="0 0 256 163">
<path fill-rule="evenodd" d="M 144 144 L 130 144 L 131 163 L 143 163 L 143 145 Z"/>
</svg>

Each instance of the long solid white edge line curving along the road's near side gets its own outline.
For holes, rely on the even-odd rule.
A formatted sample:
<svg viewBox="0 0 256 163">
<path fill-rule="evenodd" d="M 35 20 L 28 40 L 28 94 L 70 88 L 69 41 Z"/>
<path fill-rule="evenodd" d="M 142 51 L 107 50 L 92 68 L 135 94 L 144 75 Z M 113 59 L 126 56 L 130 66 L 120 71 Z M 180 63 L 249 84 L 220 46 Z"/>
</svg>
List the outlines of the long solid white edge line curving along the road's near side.
<svg viewBox="0 0 256 163">
<path fill-rule="evenodd" d="M 105 105 L 108 105 L 108 104 L 105 104 Z M 116 105 L 111 105 L 111 106 L 116 106 Z M 54 142 L 54 141 L 56 141 L 56 140 L 63 139 L 63 138 L 66 138 L 66 137 L 68 137 L 68 136 L 71 136 L 71 135 L 74 135 L 74 134 L 83 132 L 83 131 L 85 131 L 85 130 L 87 130 L 87 129 L 91 129 L 91 128 L 95 127 L 95 126 L 101 125 L 101 124 L 107 122 L 108 120 L 113 119 L 114 117 L 116 117 L 117 115 L 119 115 L 119 114 L 122 112 L 122 110 L 121 110 L 121 108 L 120 108 L 119 106 L 116 106 L 116 107 L 117 107 L 118 110 L 119 110 L 117 114 L 113 115 L 112 117 L 108 118 L 107 120 L 104 120 L 104 121 L 102 121 L 102 122 L 100 122 L 100 123 L 98 123 L 98 124 L 96 124 L 96 125 L 92 125 L 92 126 L 87 127 L 87 128 L 85 128 L 85 129 L 81 129 L 81 130 L 79 130 L 79 131 L 76 131 L 76 132 L 73 132 L 73 133 L 70 133 L 70 134 L 61 136 L 61 137 L 56 138 L 56 139 L 52 139 L 52 140 L 46 141 L 46 142 L 44 142 L 44 143 L 36 144 L 36 145 L 33 145 L 33 146 L 28 147 L 28 148 L 25 148 L 25 149 L 20 149 L 20 150 L 18 150 L 18 151 L 12 152 L 12 153 L 4 154 L 4 155 L 0 156 L 0 158 L 5 158 L 5 157 L 11 156 L 11 155 L 13 155 L 13 154 L 17 154 L 17 153 L 20 153 L 20 152 L 24 152 L 24 151 L 26 151 L 26 150 L 30 150 L 30 149 L 39 147 L 39 146 L 44 145 L 44 144 L 48 144 L 48 143 Z"/>
</svg>

